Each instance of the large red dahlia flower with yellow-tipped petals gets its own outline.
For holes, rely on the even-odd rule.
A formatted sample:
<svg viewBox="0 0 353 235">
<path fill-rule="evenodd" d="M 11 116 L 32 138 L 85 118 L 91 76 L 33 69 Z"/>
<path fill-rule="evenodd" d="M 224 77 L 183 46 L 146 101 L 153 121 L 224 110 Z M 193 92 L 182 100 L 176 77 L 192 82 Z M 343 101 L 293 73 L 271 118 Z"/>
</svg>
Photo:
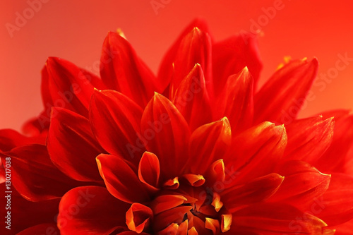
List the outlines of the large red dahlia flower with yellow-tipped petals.
<svg viewBox="0 0 353 235">
<path fill-rule="evenodd" d="M 316 59 L 256 92 L 261 66 L 256 37 L 214 42 L 196 20 L 155 78 L 109 32 L 101 78 L 47 60 L 45 109 L 26 124 L 46 143 L 1 135 L 1 158 L 25 199 L 60 200 L 61 234 L 352 234 L 353 116 L 297 119 Z M 17 231 L 47 232 L 37 213 Z"/>
</svg>

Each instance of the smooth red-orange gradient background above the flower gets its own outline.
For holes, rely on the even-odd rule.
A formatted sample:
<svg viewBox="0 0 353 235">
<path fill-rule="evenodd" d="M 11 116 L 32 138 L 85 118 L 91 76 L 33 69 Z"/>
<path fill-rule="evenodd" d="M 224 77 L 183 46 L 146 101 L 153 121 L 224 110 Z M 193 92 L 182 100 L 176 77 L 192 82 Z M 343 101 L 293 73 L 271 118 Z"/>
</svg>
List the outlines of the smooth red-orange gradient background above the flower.
<svg viewBox="0 0 353 235">
<path fill-rule="evenodd" d="M 30 0 L 37 1 L 37 0 Z M 42 0 L 44 1 L 44 0 Z M 59 56 L 98 73 L 97 61 L 109 30 L 121 28 L 136 52 L 157 71 L 160 59 L 179 32 L 193 18 L 208 21 L 216 40 L 240 30 L 249 31 L 253 21 L 265 16 L 263 8 L 277 0 L 150 0 L 59 1 L 45 0 L 13 37 L 6 23 L 16 25 L 16 13 L 30 7 L 28 1 L 1 1 L 0 5 L 0 128 L 20 130 L 23 121 L 42 111 L 40 70 L 48 56 Z M 328 73 L 339 60 L 353 58 L 352 1 L 283 0 L 284 8 L 262 23 L 261 83 L 275 71 L 283 56 L 318 57 L 320 73 Z M 321 110 L 353 108 L 353 61 L 327 83 L 313 88 L 316 99 L 301 116 Z"/>
</svg>

